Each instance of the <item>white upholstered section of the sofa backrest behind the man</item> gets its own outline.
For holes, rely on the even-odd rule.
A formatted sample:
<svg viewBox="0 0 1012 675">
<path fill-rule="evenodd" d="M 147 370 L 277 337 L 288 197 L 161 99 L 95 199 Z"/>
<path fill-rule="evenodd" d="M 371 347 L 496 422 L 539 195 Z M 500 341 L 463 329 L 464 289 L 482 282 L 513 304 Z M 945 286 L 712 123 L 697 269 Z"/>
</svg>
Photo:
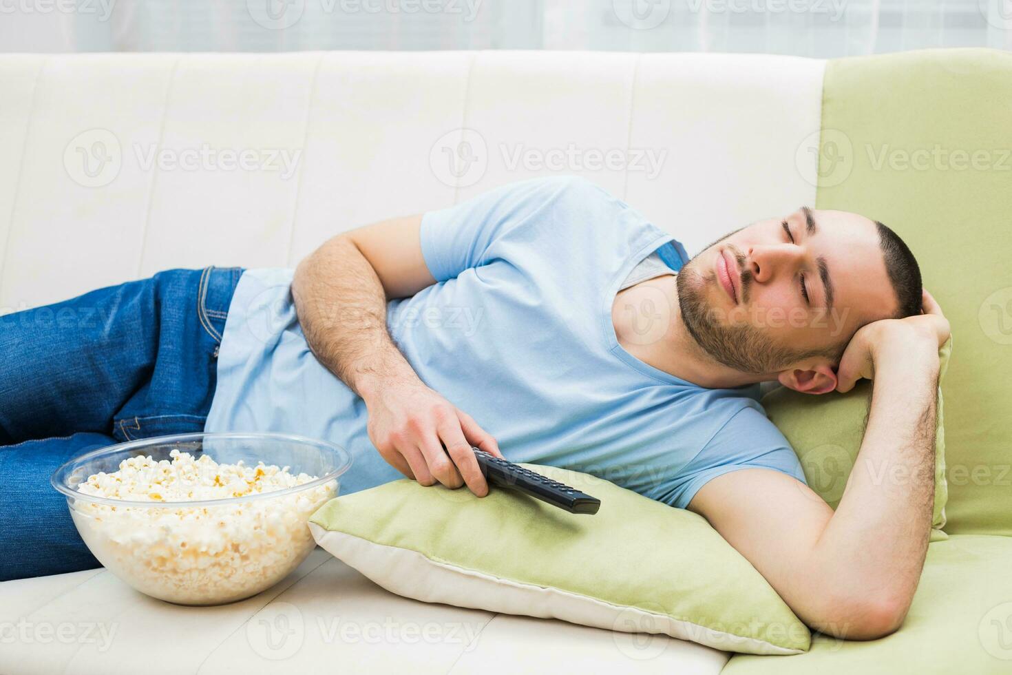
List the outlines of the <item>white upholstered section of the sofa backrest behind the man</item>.
<svg viewBox="0 0 1012 675">
<path fill-rule="evenodd" d="M 794 150 L 819 129 L 823 70 L 705 55 L 2 56 L 0 308 L 168 267 L 293 265 L 350 228 L 553 173 L 699 248 L 814 201 Z"/>
</svg>

